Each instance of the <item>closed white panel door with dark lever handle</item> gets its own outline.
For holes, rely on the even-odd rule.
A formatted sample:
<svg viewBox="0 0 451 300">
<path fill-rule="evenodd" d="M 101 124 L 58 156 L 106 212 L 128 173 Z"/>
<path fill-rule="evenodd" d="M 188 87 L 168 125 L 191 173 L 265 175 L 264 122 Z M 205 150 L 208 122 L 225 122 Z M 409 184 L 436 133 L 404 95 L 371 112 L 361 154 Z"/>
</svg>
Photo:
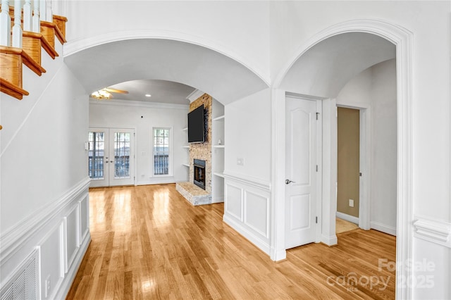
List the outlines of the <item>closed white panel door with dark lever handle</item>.
<svg viewBox="0 0 451 300">
<path fill-rule="evenodd" d="M 285 247 L 316 239 L 316 101 L 287 97 Z"/>
</svg>

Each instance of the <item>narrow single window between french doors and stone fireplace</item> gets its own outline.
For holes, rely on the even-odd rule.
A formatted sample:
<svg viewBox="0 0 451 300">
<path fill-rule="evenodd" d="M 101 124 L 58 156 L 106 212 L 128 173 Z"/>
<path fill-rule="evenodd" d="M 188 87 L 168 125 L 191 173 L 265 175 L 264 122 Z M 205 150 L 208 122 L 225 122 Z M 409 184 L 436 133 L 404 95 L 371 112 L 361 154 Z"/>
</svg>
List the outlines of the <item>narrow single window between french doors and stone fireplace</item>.
<svg viewBox="0 0 451 300">
<path fill-rule="evenodd" d="M 170 129 L 154 128 L 154 175 L 169 175 Z"/>
</svg>

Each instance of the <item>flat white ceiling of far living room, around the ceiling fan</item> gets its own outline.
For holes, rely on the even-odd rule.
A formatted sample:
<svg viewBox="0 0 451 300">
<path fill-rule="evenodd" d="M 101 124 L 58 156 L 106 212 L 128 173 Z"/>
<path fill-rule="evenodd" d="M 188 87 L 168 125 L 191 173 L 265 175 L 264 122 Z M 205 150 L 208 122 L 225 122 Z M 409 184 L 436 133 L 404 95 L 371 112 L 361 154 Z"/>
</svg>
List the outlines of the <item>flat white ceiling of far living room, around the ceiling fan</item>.
<svg viewBox="0 0 451 300">
<path fill-rule="evenodd" d="M 128 94 L 112 93 L 113 99 L 164 104 L 190 104 L 187 96 L 194 91 L 194 87 L 166 80 L 131 80 L 109 87 L 128 91 Z"/>
</svg>

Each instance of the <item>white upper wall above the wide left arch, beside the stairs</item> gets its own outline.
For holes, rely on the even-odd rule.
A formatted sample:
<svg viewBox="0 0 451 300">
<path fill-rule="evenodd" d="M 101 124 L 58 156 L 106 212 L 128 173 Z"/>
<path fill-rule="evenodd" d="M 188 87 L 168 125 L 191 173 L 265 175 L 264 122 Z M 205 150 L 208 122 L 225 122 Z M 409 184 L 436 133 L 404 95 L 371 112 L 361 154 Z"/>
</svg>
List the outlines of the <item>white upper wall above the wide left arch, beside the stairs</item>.
<svg viewBox="0 0 451 300">
<path fill-rule="evenodd" d="M 68 1 L 67 37 L 77 51 L 130 33 L 173 36 L 205 44 L 268 81 L 268 7 L 266 1 Z"/>
</svg>

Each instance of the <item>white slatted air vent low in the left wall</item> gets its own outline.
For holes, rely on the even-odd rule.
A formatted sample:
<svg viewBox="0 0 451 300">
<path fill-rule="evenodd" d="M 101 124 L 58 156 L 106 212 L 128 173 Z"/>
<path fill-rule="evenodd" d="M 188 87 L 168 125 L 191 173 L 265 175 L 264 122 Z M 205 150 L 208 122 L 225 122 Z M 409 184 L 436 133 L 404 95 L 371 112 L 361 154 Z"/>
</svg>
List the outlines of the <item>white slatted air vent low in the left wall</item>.
<svg viewBox="0 0 451 300">
<path fill-rule="evenodd" d="M 1 300 L 39 299 L 39 251 L 35 249 L 1 287 Z"/>
</svg>

